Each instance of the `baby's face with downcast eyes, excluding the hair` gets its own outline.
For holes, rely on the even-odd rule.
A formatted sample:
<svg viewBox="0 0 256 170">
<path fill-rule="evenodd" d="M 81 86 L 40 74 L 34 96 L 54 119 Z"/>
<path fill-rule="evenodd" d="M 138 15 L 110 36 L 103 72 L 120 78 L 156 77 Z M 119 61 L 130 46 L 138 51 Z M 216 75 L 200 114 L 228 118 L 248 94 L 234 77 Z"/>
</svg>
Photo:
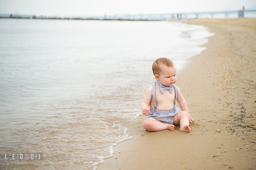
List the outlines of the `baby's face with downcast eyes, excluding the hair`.
<svg viewBox="0 0 256 170">
<path fill-rule="evenodd" d="M 172 86 L 172 84 L 176 83 L 175 65 L 173 67 L 162 66 L 158 81 L 164 86 Z"/>
</svg>

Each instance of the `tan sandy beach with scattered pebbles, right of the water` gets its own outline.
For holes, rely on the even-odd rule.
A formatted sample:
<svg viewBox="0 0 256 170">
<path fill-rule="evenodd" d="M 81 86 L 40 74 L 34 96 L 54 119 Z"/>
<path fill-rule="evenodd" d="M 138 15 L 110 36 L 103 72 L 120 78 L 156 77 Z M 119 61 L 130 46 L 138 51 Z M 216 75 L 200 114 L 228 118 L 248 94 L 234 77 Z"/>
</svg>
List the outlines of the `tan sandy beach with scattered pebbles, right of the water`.
<svg viewBox="0 0 256 170">
<path fill-rule="evenodd" d="M 256 169 L 256 18 L 182 22 L 215 33 L 177 74 L 192 131 L 148 132 L 139 116 L 126 124 L 132 139 L 114 146 L 98 170 Z"/>
</svg>

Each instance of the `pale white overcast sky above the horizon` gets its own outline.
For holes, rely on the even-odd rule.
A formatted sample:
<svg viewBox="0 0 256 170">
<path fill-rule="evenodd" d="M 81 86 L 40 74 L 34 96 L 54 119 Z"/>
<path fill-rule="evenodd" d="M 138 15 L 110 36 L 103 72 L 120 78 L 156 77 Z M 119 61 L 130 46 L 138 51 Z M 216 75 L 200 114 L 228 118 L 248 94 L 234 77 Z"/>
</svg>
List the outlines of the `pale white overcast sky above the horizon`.
<svg viewBox="0 0 256 170">
<path fill-rule="evenodd" d="M 256 0 L 0 0 L 0 14 L 104 16 L 231 11 L 254 7 Z"/>
</svg>

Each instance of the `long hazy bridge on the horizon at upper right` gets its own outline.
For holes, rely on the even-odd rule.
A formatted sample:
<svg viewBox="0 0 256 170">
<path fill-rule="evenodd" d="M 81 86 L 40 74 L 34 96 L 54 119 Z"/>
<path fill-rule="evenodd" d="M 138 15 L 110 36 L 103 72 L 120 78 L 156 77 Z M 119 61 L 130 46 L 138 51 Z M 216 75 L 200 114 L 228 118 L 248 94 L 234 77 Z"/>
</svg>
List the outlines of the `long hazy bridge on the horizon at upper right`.
<svg viewBox="0 0 256 170">
<path fill-rule="evenodd" d="M 254 13 L 256 17 L 256 10 L 244 10 L 244 13 Z M 229 15 L 237 15 L 237 17 L 243 17 L 243 11 L 218 11 L 218 12 L 185 12 L 185 13 L 165 13 L 165 14 L 137 14 L 137 15 L 129 15 L 129 14 L 117 14 L 108 16 L 107 18 L 112 19 L 132 19 L 132 20 L 143 20 L 143 19 L 152 19 L 152 20 L 170 20 L 170 19 L 186 19 L 186 18 L 199 18 L 202 16 L 211 16 L 214 15 L 225 15 L 228 17 Z"/>
</svg>

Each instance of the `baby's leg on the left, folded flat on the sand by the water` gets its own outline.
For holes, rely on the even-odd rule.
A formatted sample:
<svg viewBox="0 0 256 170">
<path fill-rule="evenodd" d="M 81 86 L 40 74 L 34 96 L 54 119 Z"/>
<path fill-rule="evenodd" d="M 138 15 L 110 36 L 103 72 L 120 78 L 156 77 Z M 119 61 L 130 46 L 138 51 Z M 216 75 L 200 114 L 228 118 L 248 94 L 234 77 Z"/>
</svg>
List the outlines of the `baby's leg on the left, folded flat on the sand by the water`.
<svg viewBox="0 0 256 170">
<path fill-rule="evenodd" d="M 162 131 L 162 130 L 166 130 L 166 129 L 173 131 L 175 126 L 171 125 L 171 124 L 164 124 L 160 120 L 156 120 L 156 119 L 150 117 L 150 118 L 144 120 L 143 127 L 146 130 L 153 132 L 153 131 Z"/>
</svg>

